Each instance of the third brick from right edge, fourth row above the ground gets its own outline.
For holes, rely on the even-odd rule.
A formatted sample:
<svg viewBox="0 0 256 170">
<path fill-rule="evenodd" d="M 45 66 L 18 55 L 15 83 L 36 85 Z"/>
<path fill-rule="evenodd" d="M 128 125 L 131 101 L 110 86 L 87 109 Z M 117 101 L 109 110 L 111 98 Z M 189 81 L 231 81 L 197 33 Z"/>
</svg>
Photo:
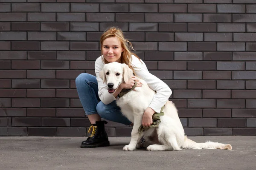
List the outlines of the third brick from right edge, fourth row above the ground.
<svg viewBox="0 0 256 170">
<path fill-rule="evenodd" d="M 215 99 L 188 99 L 188 108 L 215 108 Z"/>
</svg>

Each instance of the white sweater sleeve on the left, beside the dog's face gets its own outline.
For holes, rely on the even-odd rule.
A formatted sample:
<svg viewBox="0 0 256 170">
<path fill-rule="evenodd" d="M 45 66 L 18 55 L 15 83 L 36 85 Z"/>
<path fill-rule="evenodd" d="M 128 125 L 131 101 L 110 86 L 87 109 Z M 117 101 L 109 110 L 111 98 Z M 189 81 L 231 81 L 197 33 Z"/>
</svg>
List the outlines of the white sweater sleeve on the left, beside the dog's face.
<svg viewBox="0 0 256 170">
<path fill-rule="evenodd" d="M 96 59 L 95 61 L 95 74 L 96 74 L 96 79 L 98 82 L 98 88 L 99 88 L 99 99 L 105 104 L 108 105 L 116 98 L 113 96 L 113 94 L 108 93 L 108 88 L 107 86 L 103 83 L 103 80 L 99 77 L 99 72 L 102 70 L 104 66 L 104 63 L 102 62 L 101 57 Z"/>
</svg>

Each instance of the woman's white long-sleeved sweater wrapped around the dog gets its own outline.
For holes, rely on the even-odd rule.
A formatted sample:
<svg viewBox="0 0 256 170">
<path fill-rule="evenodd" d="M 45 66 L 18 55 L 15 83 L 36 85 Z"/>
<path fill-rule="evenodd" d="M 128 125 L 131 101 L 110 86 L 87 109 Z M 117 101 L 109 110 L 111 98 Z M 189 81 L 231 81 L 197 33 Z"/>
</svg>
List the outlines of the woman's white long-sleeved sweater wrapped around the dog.
<svg viewBox="0 0 256 170">
<path fill-rule="evenodd" d="M 108 105 L 114 100 L 116 100 L 116 98 L 113 96 L 113 94 L 110 94 L 108 92 L 107 86 L 103 83 L 103 80 L 99 77 L 99 71 L 102 70 L 103 65 L 104 65 L 104 62 L 102 61 L 102 56 L 100 56 L 95 61 L 95 74 L 98 81 L 99 99 L 101 99 L 101 101 L 105 105 Z M 136 67 L 134 70 L 134 73 L 137 75 L 137 77 L 145 80 L 148 86 L 157 92 L 154 95 L 154 98 L 151 101 L 151 104 L 149 105 L 149 107 L 159 113 L 163 105 L 167 102 L 167 100 L 171 96 L 172 94 L 171 89 L 169 88 L 168 85 L 166 85 L 165 82 L 163 82 L 153 74 L 149 73 L 145 63 L 142 60 L 140 62 L 140 60 L 134 55 L 132 55 L 131 65 Z"/>
</svg>

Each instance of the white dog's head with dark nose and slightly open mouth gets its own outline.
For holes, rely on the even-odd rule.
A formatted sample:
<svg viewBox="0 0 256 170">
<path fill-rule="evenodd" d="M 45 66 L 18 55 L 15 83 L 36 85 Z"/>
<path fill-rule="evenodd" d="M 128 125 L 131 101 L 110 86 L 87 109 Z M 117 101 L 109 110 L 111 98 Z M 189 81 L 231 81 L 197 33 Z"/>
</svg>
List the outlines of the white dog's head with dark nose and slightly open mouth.
<svg viewBox="0 0 256 170">
<path fill-rule="evenodd" d="M 132 75 L 131 68 L 119 62 L 105 64 L 99 72 L 99 77 L 108 85 L 109 93 L 113 93 L 122 82 L 128 82 Z"/>
</svg>

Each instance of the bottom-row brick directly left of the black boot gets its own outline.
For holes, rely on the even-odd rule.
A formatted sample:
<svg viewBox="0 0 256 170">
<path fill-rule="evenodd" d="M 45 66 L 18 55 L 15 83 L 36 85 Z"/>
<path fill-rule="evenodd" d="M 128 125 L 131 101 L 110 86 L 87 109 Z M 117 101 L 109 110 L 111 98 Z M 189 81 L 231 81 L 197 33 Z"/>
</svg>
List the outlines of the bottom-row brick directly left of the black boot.
<svg viewBox="0 0 256 170">
<path fill-rule="evenodd" d="M 58 127 L 57 136 L 85 136 L 85 127 Z"/>
</svg>

